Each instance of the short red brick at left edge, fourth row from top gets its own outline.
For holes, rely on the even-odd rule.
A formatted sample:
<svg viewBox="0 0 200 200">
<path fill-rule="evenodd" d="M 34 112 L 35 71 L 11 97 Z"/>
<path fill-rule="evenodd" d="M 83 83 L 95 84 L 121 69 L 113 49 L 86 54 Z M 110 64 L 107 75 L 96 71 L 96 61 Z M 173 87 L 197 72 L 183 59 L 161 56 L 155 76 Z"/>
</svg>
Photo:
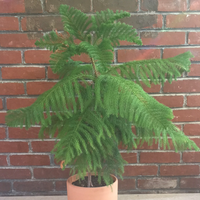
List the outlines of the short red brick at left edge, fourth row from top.
<svg viewBox="0 0 200 200">
<path fill-rule="evenodd" d="M 0 51 L 0 64 L 20 64 L 21 62 L 20 51 Z"/>
</svg>

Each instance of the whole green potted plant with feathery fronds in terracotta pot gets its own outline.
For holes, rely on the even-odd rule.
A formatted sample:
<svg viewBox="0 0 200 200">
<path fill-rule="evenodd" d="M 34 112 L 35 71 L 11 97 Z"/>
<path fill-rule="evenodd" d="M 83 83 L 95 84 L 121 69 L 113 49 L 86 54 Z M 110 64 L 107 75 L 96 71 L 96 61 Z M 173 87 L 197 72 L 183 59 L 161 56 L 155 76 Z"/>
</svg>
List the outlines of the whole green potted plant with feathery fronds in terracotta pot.
<svg viewBox="0 0 200 200">
<path fill-rule="evenodd" d="M 113 65 L 114 47 L 121 40 L 142 45 L 135 29 L 120 22 L 128 12 L 106 10 L 88 17 L 61 5 L 60 14 L 65 33 L 52 31 L 36 42 L 53 51 L 50 65 L 60 79 L 31 106 L 8 111 L 6 122 L 27 129 L 40 124 L 41 138 L 57 138 L 55 158 L 63 161 L 63 169 L 72 167 L 69 200 L 116 200 L 117 178 L 111 174 L 122 177 L 126 163 L 119 144 L 132 149 L 155 140 L 166 148 L 171 137 L 176 151 L 198 150 L 171 122 L 172 110 L 141 87 L 176 80 L 189 71 L 192 54 Z M 88 55 L 90 63 L 73 60 L 81 54 Z"/>
</svg>

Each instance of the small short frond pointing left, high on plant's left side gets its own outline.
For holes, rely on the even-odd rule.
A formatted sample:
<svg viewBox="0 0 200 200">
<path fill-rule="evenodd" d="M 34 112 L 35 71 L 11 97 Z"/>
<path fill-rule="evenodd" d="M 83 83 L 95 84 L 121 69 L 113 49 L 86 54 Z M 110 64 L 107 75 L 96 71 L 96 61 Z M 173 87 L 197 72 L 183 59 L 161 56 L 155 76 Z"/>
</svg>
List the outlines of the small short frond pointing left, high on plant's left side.
<svg viewBox="0 0 200 200">
<path fill-rule="evenodd" d="M 46 48 L 55 52 L 58 48 L 65 45 L 66 41 L 61 36 L 58 36 L 54 31 L 45 34 L 40 40 L 35 42 L 35 45 L 41 48 Z"/>
</svg>

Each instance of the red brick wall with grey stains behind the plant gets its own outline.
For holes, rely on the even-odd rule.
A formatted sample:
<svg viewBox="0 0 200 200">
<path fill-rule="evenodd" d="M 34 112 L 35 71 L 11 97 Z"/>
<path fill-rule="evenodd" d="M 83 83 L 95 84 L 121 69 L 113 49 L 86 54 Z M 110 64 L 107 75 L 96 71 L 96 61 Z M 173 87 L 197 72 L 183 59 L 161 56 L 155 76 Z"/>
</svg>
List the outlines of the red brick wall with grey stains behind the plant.
<svg viewBox="0 0 200 200">
<path fill-rule="evenodd" d="M 5 125 L 7 110 L 31 105 L 56 83 L 50 52 L 34 43 L 54 28 L 62 31 L 61 3 L 86 13 L 106 8 L 131 12 L 125 21 L 138 29 L 144 46 L 121 42 L 115 63 L 168 58 L 187 50 L 194 54 L 190 73 L 171 85 L 144 89 L 174 110 L 174 123 L 200 146 L 199 0 L 0 0 L 0 195 L 66 193 L 69 171 L 61 171 L 49 153 L 54 141 L 40 141 L 39 127 L 26 131 Z M 84 55 L 76 59 L 87 61 Z M 145 144 L 122 155 L 129 165 L 121 193 L 200 192 L 199 152 L 174 153 Z"/>
</svg>

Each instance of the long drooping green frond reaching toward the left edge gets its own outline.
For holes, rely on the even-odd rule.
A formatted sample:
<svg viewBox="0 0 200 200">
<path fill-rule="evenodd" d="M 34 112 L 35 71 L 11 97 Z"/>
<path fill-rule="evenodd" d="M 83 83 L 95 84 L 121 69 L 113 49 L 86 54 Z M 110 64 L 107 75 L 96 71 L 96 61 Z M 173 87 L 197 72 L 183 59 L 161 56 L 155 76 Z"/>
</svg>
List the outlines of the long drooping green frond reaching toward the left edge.
<svg viewBox="0 0 200 200">
<path fill-rule="evenodd" d="M 22 127 L 25 125 L 27 129 L 30 128 L 31 125 L 40 122 L 42 125 L 47 126 L 48 121 L 45 120 L 44 114 L 50 117 L 53 112 L 60 120 L 63 119 L 63 114 L 67 117 L 72 116 L 72 109 L 67 108 L 67 102 L 71 102 L 69 106 L 73 107 L 74 113 L 76 113 L 77 110 L 83 111 L 84 102 L 80 93 L 83 86 L 79 84 L 79 80 L 83 78 L 93 79 L 92 76 L 84 74 L 63 78 L 53 88 L 40 95 L 31 106 L 8 111 L 6 123 L 8 126 L 12 127 Z M 87 82 L 86 84 L 85 87 L 90 87 Z M 92 93 L 92 89 L 90 89 L 90 92 Z M 79 95 L 78 102 L 76 102 L 77 95 Z M 90 97 L 91 96 L 92 94 L 90 94 Z M 80 105 L 80 108 L 77 107 L 77 104 Z"/>
</svg>

